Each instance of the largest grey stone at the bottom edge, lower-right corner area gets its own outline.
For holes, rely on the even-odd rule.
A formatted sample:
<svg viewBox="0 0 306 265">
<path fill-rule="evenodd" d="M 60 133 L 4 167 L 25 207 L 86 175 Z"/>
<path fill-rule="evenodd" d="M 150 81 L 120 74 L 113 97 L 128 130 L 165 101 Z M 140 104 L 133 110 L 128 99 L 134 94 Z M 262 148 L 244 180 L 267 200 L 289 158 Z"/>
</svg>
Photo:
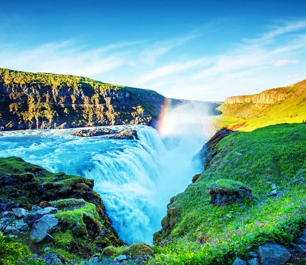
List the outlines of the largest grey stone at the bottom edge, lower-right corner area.
<svg viewBox="0 0 306 265">
<path fill-rule="evenodd" d="M 289 251 L 281 245 L 267 242 L 258 248 L 261 265 L 284 265 L 290 259 Z"/>
</svg>

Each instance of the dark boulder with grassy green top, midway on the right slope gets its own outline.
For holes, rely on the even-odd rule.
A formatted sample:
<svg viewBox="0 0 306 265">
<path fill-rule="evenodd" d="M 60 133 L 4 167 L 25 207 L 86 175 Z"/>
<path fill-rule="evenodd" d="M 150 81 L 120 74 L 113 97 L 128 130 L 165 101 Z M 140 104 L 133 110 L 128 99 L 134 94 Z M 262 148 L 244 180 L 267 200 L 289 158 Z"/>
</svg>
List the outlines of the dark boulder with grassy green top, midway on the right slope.
<svg viewBox="0 0 306 265">
<path fill-rule="evenodd" d="M 230 205 L 242 202 L 245 198 L 253 198 L 252 191 L 241 182 L 231 180 L 218 180 L 209 189 L 210 204 L 216 206 Z"/>
</svg>

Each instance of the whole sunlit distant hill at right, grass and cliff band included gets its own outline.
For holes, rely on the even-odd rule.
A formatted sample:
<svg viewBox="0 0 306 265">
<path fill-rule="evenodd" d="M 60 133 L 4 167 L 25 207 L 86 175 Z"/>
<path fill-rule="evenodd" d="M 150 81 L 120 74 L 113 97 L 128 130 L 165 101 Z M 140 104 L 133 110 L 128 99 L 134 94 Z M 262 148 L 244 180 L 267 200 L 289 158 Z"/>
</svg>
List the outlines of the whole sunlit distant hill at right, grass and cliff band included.
<svg viewBox="0 0 306 265">
<path fill-rule="evenodd" d="M 255 95 L 225 99 L 214 117 L 218 128 L 251 131 L 279 123 L 302 123 L 306 119 L 306 80 Z"/>
</svg>

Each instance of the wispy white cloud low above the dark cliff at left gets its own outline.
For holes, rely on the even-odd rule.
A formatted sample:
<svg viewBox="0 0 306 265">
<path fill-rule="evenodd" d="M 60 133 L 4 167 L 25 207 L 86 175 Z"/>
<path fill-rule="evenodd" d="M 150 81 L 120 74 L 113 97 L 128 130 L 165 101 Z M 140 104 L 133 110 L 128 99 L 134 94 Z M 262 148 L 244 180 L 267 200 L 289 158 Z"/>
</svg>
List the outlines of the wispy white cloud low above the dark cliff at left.
<svg viewBox="0 0 306 265">
<path fill-rule="evenodd" d="M 123 65 L 133 65 L 131 58 L 118 49 L 136 44 L 138 42 L 123 42 L 84 50 L 75 45 L 74 41 L 47 43 L 21 53 L 2 52 L 0 62 L 1 66 L 6 68 L 90 77 Z M 111 52 L 112 50 L 116 52 Z"/>
</svg>

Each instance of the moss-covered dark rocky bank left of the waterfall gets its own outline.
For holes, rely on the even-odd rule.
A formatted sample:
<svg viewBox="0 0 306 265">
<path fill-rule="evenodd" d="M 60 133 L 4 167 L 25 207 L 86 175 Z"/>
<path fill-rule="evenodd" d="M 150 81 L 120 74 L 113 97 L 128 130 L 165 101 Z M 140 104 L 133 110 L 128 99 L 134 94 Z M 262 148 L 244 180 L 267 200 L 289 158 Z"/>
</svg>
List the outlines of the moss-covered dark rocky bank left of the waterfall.
<svg viewBox="0 0 306 265">
<path fill-rule="evenodd" d="M 33 205 L 57 208 L 54 248 L 84 258 L 107 246 L 123 244 L 93 185 L 93 180 L 51 173 L 18 157 L 0 158 L 0 198 L 28 210 Z"/>
</svg>

